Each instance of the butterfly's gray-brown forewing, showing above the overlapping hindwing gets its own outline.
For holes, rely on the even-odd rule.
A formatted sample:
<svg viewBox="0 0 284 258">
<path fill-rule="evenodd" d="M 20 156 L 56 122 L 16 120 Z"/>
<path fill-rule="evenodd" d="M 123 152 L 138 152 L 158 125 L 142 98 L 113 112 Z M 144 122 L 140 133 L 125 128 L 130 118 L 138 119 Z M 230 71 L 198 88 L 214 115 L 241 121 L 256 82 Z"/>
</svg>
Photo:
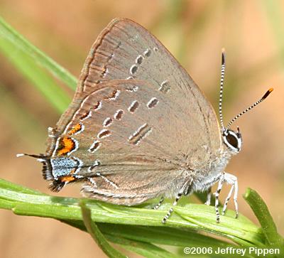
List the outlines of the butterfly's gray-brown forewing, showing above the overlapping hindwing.
<svg viewBox="0 0 284 258">
<path fill-rule="evenodd" d="M 163 44 L 138 23 L 126 18 L 111 21 L 92 45 L 74 100 L 58 121 L 58 134 L 64 131 L 84 97 L 100 82 L 129 77 L 146 80 L 176 102 L 186 96 L 185 108 L 203 122 L 207 146 L 219 149 L 219 124 L 211 104 Z"/>
</svg>

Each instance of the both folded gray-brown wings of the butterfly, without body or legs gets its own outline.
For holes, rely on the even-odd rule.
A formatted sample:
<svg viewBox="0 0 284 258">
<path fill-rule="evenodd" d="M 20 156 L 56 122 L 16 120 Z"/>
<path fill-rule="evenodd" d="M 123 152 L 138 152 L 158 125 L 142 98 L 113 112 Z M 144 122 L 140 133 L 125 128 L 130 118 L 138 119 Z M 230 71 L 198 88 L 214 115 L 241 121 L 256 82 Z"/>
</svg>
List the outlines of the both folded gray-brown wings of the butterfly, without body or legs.
<svg viewBox="0 0 284 258">
<path fill-rule="evenodd" d="M 129 77 L 132 82 L 113 81 Z M 120 123 L 117 115 L 122 116 Z M 116 123 L 104 128 L 110 118 Z M 73 149 L 68 149 L 68 137 L 74 140 Z M 190 76 L 148 31 L 126 19 L 114 20 L 99 36 L 84 65 L 75 99 L 50 138 L 53 144 L 47 153 L 56 159 L 67 150 L 62 154 L 68 156 L 64 166 L 73 169 L 75 161 L 70 159 L 76 160 L 80 169 L 73 173 L 77 178 L 104 178 L 109 188 L 101 184 L 97 196 L 110 196 L 116 190 L 122 198 L 121 194 L 130 194 L 126 189 L 135 193 L 138 180 L 130 175 L 153 175 L 148 189 L 143 188 L 143 200 L 151 188 L 160 186 L 153 190 L 155 195 L 170 190 L 173 184 L 161 187 L 168 178 L 175 182 L 184 171 L 208 169 L 205 165 L 217 156 L 215 150 L 221 144 L 216 115 Z M 53 171 L 60 171 L 60 162 L 54 163 L 58 168 L 54 165 Z M 124 178 L 128 187 L 114 189 L 119 183 L 108 179 L 114 175 Z"/>
</svg>

